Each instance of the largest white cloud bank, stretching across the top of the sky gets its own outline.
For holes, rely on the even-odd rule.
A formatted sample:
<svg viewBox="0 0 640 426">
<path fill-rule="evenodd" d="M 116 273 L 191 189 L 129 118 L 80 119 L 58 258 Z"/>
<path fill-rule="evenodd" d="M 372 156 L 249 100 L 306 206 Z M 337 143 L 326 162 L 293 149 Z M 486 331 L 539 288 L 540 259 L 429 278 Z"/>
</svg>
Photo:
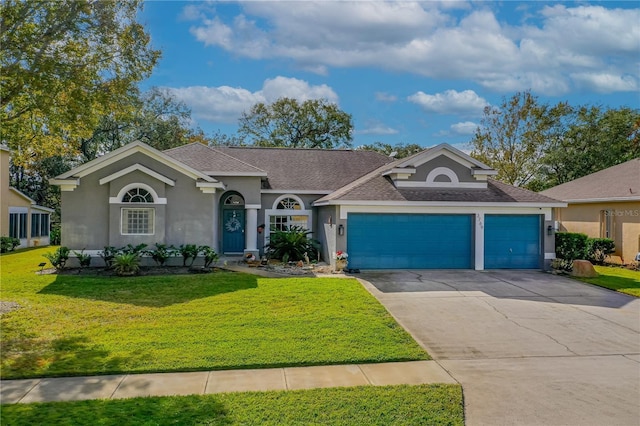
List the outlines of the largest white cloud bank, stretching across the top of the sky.
<svg viewBox="0 0 640 426">
<path fill-rule="evenodd" d="M 611 75 L 586 79 L 603 93 L 634 90 L 640 78 L 638 8 L 536 4 L 518 12 L 526 24 L 508 24 L 473 2 L 245 2 L 224 21 L 207 3 L 187 7 L 207 46 L 321 74 L 380 67 L 547 95 L 584 87 L 583 75 Z"/>
</svg>

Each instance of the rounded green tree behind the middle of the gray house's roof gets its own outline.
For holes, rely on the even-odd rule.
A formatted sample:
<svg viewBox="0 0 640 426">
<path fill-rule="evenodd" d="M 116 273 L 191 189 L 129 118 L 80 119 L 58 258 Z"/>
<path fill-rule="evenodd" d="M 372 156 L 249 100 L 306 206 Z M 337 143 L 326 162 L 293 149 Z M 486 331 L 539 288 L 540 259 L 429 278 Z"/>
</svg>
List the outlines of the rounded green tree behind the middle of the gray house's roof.
<svg viewBox="0 0 640 426">
<path fill-rule="evenodd" d="M 281 98 L 240 118 L 239 134 L 257 146 L 331 149 L 351 146 L 351 115 L 326 100 Z"/>
</svg>

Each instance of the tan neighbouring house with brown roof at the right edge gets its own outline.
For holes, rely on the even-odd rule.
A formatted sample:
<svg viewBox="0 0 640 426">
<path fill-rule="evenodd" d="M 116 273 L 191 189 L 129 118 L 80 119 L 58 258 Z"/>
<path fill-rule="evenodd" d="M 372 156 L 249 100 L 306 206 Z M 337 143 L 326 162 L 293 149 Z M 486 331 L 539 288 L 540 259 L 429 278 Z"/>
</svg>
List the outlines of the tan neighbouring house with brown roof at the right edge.
<svg viewBox="0 0 640 426">
<path fill-rule="evenodd" d="M 554 209 L 560 230 L 610 238 L 625 264 L 640 253 L 640 158 L 609 167 L 541 194 L 566 201 Z"/>
</svg>

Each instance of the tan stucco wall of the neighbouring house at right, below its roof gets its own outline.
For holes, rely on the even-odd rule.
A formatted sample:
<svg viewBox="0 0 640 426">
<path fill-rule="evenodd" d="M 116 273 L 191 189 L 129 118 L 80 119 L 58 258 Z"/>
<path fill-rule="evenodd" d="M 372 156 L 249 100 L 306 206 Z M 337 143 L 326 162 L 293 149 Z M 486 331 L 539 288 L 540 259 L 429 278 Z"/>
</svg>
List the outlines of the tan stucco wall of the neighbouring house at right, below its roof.
<svg viewBox="0 0 640 426">
<path fill-rule="evenodd" d="M 640 252 L 640 201 L 569 204 L 554 209 L 554 217 L 560 222 L 560 230 L 582 232 L 590 237 L 600 235 L 601 211 L 613 211 L 613 241 L 615 255 L 624 263 L 633 261 Z"/>
</svg>

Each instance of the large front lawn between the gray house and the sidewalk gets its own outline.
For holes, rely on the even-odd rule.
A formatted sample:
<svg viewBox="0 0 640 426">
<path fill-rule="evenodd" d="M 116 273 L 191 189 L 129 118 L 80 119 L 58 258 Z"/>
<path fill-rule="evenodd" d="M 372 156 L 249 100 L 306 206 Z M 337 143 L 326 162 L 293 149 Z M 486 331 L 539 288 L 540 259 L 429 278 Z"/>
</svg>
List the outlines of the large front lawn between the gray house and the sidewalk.
<svg viewBox="0 0 640 426">
<path fill-rule="evenodd" d="M 3 379 L 428 359 L 356 280 L 36 274 L 52 250 L 0 257 Z"/>
</svg>

